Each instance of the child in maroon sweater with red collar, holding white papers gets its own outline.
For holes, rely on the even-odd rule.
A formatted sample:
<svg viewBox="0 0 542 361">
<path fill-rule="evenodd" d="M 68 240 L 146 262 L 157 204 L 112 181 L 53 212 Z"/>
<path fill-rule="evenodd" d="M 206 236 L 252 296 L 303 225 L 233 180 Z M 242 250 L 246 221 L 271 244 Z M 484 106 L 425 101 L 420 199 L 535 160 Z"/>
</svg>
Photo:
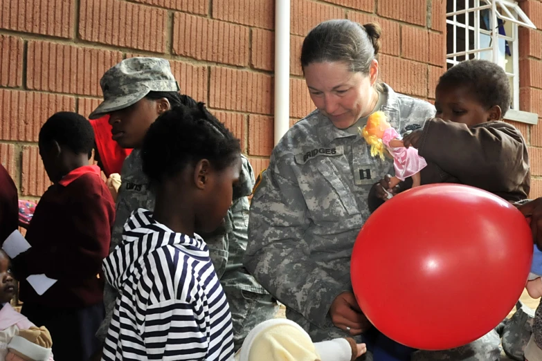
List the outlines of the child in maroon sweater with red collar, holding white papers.
<svg viewBox="0 0 542 361">
<path fill-rule="evenodd" d="M 39 131 L 39 154 L 53 182 L 42 196 L 13 260 L 19 279 L 45 274 L 57 282 L 38 295 L 21 281 L 21 313 L 51 332 L 57 360 L 88 360 L 104 317 L 101 263 L 109 250 L 115 208 L 98 166 L 89 165 L 94 135 L 87 119 L 61 112 Z"/>
</svg>

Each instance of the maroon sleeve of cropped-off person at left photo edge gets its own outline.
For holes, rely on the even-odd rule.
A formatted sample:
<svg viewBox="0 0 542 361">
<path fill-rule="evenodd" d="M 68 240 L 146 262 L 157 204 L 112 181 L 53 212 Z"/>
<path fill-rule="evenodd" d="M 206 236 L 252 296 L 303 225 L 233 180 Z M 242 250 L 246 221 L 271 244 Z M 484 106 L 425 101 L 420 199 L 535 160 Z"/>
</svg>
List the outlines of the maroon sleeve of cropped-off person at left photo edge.
<svg viewBox="0 0 542 361">
<path fill-rule="evenodd" d="M 17 187 L 6 168 L 0 165 L 0 244 L 17 230 L 19 225 L 19 197 Z"/>
</svg>

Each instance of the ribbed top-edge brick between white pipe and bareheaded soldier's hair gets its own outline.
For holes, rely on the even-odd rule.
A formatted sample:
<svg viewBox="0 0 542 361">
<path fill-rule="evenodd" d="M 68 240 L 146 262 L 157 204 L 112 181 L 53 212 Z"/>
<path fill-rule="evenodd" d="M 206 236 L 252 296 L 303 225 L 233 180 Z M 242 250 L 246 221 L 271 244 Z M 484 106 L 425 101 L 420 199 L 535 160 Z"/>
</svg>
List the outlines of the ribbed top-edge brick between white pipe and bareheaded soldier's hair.
<svg viewBox="0 0 542 361">
<path fill-rule="evenodd" d="M 345 10 L 311 0 L 291 0 L 290 9 L 290 33 L 304 37 L 322 21 L 345 18 Z"/>
</svg>

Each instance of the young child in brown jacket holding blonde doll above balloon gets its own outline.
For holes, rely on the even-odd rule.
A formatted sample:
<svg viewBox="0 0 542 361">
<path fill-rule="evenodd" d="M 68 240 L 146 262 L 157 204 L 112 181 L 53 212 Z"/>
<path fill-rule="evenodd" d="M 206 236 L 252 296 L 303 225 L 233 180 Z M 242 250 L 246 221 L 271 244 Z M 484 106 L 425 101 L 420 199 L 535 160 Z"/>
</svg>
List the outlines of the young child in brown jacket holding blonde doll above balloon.
<svg viewBox="0 0 542 361">
<path fill-rule="evenodd" d="M 486 60 L 467 60 L 450 68 L 437 84 L 436 116 L 422 130 L 404 137 L 427 160 L 422 185 L 460 183 L 521 201 L 530 191 L 527 145 L 520 131 L 502 122 L 511 102 L 508 77 Z M 381 181 L 375 191 L 385 199 Z M 397 190 L 396 190 L 397 192 Z"/>
</svg>

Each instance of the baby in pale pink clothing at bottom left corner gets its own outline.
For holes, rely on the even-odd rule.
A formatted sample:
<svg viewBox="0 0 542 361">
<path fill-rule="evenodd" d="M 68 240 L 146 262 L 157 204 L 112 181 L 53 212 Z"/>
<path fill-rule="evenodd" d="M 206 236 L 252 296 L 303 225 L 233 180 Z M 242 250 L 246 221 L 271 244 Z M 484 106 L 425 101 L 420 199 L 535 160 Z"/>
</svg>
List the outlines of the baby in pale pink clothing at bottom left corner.
<svg viewBox="0 0 542 361">
<path fill-rule="evenodd" d="M 0 250 L 0 361 L 21 360 L 20 356 L 32 360 L 28 355 L 39 355 L 41 360 L 52 361 L 51 337 L 46 328 L 37 328 L 10 305 L 15 296 L 16 283 L 10 258 L 6 252 Z M 26 339 L 17 340 L 17 336 L 24 336 L 24 331 L 34 334 L 44 345 L 40 346 Z M 30 353 L 26 354 L 27 350 L 30 350 Z"/>
</svg>

